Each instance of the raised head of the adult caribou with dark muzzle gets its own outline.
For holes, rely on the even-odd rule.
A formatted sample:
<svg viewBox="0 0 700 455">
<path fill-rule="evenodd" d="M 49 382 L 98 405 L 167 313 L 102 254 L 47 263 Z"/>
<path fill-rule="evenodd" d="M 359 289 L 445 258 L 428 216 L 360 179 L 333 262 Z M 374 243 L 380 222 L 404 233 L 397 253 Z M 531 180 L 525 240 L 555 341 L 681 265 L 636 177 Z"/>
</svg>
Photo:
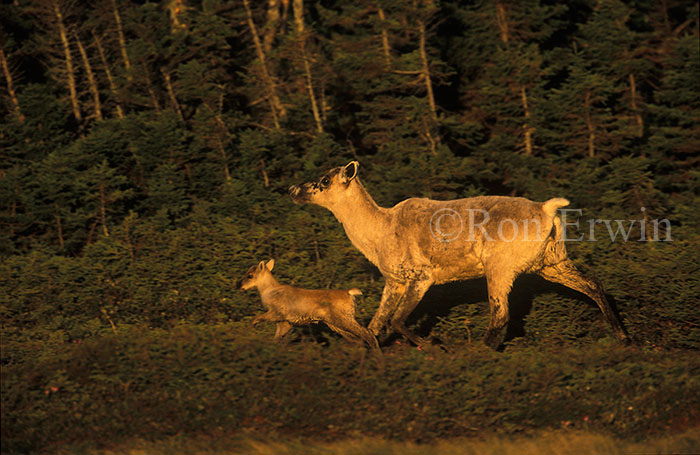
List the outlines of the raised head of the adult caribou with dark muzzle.
<svg viewBox="0 0 700 455">
<path fill-rule="evenodd" d="M 289 187 L 289 195 L 297 204 L 311 203 L 330 209 L 342 204 L 348 197 L 349 188 L 359 169 L 360 163 L 351 161 L 345 166 L 331 169 L 317 181 L 292 185 Z"/>
</svg>

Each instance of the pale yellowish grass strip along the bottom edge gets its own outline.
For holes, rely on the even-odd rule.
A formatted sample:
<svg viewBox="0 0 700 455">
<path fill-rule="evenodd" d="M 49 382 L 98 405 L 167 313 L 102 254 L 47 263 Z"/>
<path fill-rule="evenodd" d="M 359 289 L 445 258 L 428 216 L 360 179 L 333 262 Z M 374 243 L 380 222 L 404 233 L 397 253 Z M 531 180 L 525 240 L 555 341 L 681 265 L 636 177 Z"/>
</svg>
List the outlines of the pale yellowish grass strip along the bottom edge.
<svg viewBox="0 0 700 455">
<path fill-rule="evenodd" d="M 585 431 L 549 431 L 534 436 L 440 440 L 417 444 L 357 438 L 333 443 L 270 442 L 215 437 L 131 440 L 106 448 L 72 446 L 57 455 L 650 455 L 700 453 L 700 428 L 644 441 L 623 440 Z"/>
</svg>

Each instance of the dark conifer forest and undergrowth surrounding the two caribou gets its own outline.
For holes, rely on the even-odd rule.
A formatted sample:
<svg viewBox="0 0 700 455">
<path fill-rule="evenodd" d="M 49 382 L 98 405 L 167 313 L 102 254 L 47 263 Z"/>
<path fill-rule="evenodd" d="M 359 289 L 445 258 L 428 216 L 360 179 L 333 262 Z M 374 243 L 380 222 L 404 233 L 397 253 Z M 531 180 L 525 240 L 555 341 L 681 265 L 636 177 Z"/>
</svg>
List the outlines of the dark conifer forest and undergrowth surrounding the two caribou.
<svg viewBox="0 0 700 455">
<path fill-rule="evenodd" d="M 692 0 L 3 2 L 3 452 L 697 430 L 698 30 Z M 350 160 L 383 206 L 566 197 L 587 240 L 623 220 L 568 249 L 635 342 L 526 277 L 502 352 L 482 280 L 433 289 L 409 322 L 434 349 L 384 340 L 384 369 L 323 327 L 274 345 L 234 287 L 260 260 L 359 287 L 363 324 L 378 305 L 333 216 L 286 195 Z"/>
</svg>

